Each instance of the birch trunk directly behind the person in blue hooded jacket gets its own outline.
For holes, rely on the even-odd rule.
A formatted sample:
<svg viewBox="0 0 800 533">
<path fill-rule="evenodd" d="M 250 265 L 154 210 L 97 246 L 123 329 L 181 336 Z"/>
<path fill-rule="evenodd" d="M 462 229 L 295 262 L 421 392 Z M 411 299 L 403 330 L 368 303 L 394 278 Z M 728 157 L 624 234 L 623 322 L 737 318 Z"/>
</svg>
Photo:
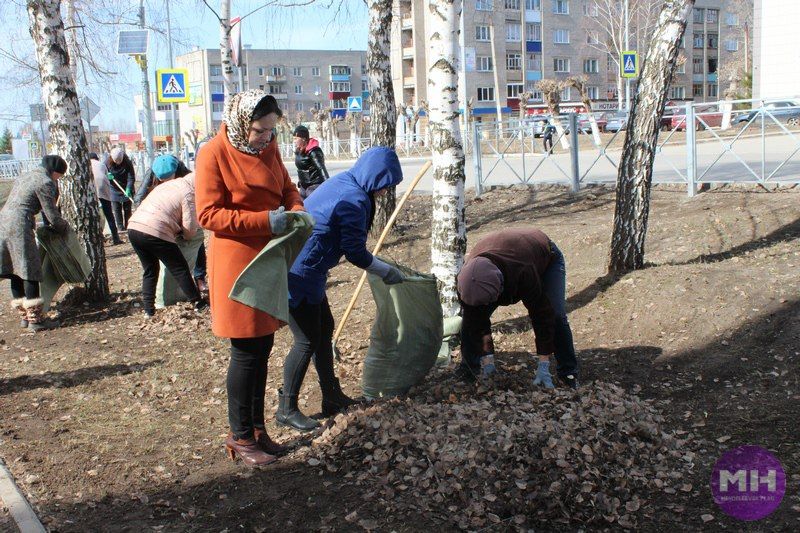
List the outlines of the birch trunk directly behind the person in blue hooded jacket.
<svg viewBox="0 0 800 533">
<path fill-rule="evenodd" d="M 372 146 L 397 143 L 397 108 L 394 103 L 391 52 L 392 0 L 369 0 L 369 38 L 367 40 L 367 75 L 369 76 L 369 108 Z M 375 200 L 372 236 L 386 227 L 396 204 L 394 187 Z"/>
</svg>

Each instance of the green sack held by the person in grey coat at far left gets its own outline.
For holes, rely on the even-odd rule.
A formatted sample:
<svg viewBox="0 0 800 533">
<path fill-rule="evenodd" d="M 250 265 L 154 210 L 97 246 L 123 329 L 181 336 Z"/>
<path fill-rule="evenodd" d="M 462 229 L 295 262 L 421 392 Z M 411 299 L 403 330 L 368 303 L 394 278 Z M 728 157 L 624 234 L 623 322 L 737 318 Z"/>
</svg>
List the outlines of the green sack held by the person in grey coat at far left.
<svg viewBox="0 0 800 533">
<path fill-rule="evenodd" d="M 39 284 L 44 310 L 50 309 L 53 296 L 64 283 L 83 283 L 92 271 L 89 256 L 78 240 L 78 234 L 67 228 L 65 234 L 49 227 L 36 230 L 39 256 L 42 259 L 42 281 Z"/>
</svg>

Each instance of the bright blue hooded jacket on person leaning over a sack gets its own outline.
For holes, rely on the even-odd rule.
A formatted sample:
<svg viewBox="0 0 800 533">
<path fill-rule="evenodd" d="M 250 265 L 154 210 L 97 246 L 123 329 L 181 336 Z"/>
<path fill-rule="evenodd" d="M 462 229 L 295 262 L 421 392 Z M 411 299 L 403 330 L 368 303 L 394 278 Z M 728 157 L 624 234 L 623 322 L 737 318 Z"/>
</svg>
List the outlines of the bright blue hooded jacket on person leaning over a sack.
<svg viewBox="0 0 800 533">
<path fill-rule="evenodd" d="M 370 194 L 403 181 L 397 154 L 374 147 L 358 158 L 353 168 L 319 186 L 305 201 L 315 226 L 289 271 L 289 306 L 303 300 L 318 304 L 325 297 L 328 271 L 342 256 L 359 268 L 372 263 L 367 231 L 372 218 Z"/>
</svg>

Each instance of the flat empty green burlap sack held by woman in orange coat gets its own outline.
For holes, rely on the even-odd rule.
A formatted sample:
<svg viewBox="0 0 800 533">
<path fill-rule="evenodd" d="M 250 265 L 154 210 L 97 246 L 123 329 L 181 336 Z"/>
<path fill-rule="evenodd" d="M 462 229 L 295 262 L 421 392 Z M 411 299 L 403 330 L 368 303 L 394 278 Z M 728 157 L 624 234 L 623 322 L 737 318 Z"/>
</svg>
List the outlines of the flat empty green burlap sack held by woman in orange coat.
<svg viewBox="0 0 800 533">
<path fill-rule="evenodd" d="M 314 219 L 308 213 L 286 214 L 289 231 L 269 241 L 239 274 L 228 294 L 231 300 L 263 311 L 281 322 L 289 322 L 289 269 L 314 228 Z"/>
</svg>

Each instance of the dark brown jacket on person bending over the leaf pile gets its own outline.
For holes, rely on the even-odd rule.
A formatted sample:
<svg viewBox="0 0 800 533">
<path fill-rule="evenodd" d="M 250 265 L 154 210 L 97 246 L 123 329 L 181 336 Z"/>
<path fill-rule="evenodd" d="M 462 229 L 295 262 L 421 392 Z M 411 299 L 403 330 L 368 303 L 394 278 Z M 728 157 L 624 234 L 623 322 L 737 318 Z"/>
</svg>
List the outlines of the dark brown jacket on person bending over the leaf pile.
<svg viewBox="0 0 800 533">
<path fill-rule="evenodd" d="M 533 324 L 537 353 L 553 353 L 555 315 L 542 292 L 541 281 L 553 258 L 547 235 L 528 228 L 500 230 L 475 244 L 469 257 L 478 256 L 490 259 L 503 273 L 503 292 L 497 303 L 512 305 L 521 301 Z"/>
</svg>

